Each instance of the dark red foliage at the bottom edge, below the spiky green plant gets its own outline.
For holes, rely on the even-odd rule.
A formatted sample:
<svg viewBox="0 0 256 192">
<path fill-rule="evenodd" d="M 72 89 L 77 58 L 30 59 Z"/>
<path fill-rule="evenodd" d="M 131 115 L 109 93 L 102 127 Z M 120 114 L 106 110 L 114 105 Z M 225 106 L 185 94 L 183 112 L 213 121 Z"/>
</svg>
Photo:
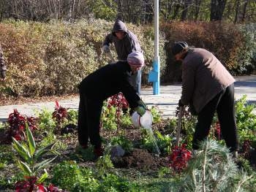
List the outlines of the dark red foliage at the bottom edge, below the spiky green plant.
<svg viewBox="0 0 256 192">
<path fill-rule="evenodd" d="M 50 184 L 45 187 L 42 183 L 37 183 L 37 177 L 25 177 L 26 180 L 18 181 L 15 183 L 15 192 L 59 192 L 59 188 Z M 62 191 L 64 192 L 64 191 Z"/>
</svg>

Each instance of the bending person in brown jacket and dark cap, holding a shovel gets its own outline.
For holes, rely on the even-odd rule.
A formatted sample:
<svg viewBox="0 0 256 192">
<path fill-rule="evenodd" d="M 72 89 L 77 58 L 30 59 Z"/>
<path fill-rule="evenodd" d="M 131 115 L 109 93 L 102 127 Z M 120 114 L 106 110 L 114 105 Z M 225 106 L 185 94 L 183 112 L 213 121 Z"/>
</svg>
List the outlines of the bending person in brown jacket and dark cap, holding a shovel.
<svg viewBox="0 0 256 192">
<path fill-rule="evenodd" d="M 190 105 L 197 114 L 193 149 L 197 150 L 198 142 L 208 136 L 217 112 L 222 137 L 230 152 L 237 156 L 235 79 L 208 50 L 189 47 L 187 42 L 176 42 L 172 53 L 176 61 L 182 61 L 182 91 L 178 105 Z"/>
</svg>

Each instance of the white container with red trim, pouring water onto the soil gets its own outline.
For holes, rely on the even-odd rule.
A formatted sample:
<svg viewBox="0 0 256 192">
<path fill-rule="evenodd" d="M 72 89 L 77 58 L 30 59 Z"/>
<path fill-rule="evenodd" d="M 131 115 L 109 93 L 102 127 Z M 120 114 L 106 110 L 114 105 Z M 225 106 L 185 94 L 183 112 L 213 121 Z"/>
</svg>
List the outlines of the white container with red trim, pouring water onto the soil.
<svg viewBox="0 0 256 192">
<path fill-rule="evenodd" d="M 132 114 L 132 124 L 136 128 L 151 128 L 153 122 L 152 114 L 149 110 L 146 110 L 145 114 L 140 117 L 138 112 L 133 112 Z"/>
</svg>

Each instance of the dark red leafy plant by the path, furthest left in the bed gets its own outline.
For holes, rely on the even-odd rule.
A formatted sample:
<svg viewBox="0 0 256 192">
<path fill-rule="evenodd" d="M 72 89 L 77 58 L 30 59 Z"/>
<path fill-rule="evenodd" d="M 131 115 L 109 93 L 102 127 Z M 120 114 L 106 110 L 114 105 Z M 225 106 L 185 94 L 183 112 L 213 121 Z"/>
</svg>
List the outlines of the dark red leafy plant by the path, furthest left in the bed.
<svg viewBox="0 0 256 192">
<path fill-rule="evenodd" d="M 20 115 L 17 109 L 10 113 L 7 122 L 9 123 L 9 129 L 6 131 L 7 141 L 11 141 L 12 137 L 18 141 L 24 139 L 26 137 L 24 134 L 25 123 L 28 123 L 31 131 L 37 129 L 37 118 Z"/>
</svg>

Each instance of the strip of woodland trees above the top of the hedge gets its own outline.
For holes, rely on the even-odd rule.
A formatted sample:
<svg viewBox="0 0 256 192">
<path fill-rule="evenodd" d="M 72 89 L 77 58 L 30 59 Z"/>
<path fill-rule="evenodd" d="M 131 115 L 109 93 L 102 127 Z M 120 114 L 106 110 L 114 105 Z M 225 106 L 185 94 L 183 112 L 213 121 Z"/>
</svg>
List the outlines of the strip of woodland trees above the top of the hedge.
<svg viewBox="0 0 256 192">
<path fill-rule="evenodd" d="M 255 0 L 159 0 L 160 18 L 170 20 L 224 20 L 255 23 Z M 0 0 L 0 20 L 120 18 L 129 23 L 151 23 L 154 0 Z"/>
</svg>

